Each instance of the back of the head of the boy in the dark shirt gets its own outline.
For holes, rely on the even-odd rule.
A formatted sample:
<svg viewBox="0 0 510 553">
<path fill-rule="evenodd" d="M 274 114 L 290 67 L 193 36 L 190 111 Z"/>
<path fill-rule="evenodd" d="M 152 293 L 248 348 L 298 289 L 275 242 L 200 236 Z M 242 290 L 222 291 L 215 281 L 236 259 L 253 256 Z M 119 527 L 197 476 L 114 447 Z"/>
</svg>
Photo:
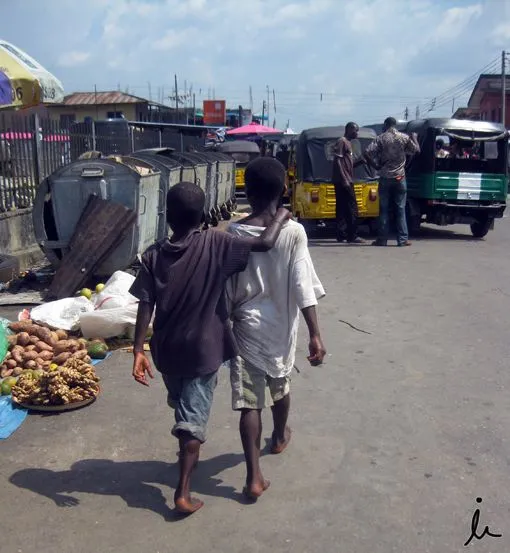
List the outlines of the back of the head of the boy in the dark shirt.
<svg viewBox="0 0 510 553">
<path fill-rule="evenodd" d="M 205 206 L 204 191 L 192 182 L 172 186 L 166 195 L 166 220 L 172 227 L 198 227 Z"/>
</svg>

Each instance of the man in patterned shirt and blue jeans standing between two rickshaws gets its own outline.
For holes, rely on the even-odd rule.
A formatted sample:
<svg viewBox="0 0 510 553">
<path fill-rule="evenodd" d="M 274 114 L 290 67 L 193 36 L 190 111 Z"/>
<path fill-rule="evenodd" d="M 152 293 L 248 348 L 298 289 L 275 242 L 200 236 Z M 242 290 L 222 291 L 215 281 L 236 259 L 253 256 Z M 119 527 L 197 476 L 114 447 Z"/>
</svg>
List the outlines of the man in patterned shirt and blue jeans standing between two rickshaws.
<svg viewBox="0 0 510 553">
<path fill-rule="evenodd" d="M 397 219 L 397 244 L 410 246 L 408 240 L 406 201 L 407 183 L 405 175 L 406 156 L 420 151 L 416 133 L 411 136 L 396 129 L 397 121 L 388 117 L 384 121 L 383 133 L 365 151 L 365 159 L 379 171 L 379 237 L 373 246 L 386 246 L 388 242 L 388 211 L 390 201 L 394 205 Z"/>
</svg>

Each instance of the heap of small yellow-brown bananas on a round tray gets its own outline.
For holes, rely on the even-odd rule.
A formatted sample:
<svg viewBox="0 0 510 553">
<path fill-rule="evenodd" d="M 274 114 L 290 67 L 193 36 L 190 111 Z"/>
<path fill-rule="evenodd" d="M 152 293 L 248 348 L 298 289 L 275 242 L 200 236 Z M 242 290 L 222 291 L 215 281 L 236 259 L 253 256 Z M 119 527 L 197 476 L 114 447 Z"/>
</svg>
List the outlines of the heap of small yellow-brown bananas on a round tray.
<svg viewBox="0 0 510 553">
<path fill-rule="evenodd" d="M 92 365 L 71 358 L 49 372 L 23 373 L 12 388 L 12 397 L 30 405 L 67 405 L 95 398 L 98 382 Z"/>
</svg>

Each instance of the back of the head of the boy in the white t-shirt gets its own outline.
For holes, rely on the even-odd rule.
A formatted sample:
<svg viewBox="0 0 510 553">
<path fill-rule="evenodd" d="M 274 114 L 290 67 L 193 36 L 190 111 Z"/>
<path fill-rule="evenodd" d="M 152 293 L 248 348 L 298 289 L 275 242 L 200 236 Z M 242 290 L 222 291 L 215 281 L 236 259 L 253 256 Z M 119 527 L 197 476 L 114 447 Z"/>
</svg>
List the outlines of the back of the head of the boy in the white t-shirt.
<svg viewBox="0 0 510 553">
<path fill-rule="evenodd" d="M 258 157 L 244 173 L 246 195 L 257 200 L 278 200 L 285 189 L 285 167 L 277 159 Z"/>
</svg>

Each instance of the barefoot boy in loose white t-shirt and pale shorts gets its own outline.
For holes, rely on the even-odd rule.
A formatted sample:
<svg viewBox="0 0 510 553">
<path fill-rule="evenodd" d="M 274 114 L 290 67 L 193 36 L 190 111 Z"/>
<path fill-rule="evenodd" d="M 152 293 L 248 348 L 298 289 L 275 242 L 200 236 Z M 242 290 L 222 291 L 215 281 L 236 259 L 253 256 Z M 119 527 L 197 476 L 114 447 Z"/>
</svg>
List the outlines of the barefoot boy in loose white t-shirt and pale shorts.
<svg viewBox="0 0 510 553">
<path fill-rule="evenodd" d="M 257 158 L 245 172 L 252 214 L 229 226 L 236 236 L 259 236 L 273 219 L 285 185 L 285 168 L 276 159 Z M 290 440 L 290 374 L 294 366 L 299 312 L 308 326 L 308 360 L 319 365 L 326 350 L 315 306 L 325 295 L 308 251 L 302 225 L 290 220 L 275 247 L 252 254 L 244 272 L 227 282 L 226 296 L 239 356 L 230 362 L 232 407 L 241 411 L 239 430 L 246 458 L 244 493 L 256 499 L 268 488 L 259 465 L 261 411 L 271 406 L 274 431 L 271 452 L 281 453 Z"/>
</svg>

